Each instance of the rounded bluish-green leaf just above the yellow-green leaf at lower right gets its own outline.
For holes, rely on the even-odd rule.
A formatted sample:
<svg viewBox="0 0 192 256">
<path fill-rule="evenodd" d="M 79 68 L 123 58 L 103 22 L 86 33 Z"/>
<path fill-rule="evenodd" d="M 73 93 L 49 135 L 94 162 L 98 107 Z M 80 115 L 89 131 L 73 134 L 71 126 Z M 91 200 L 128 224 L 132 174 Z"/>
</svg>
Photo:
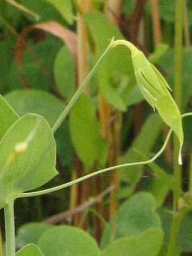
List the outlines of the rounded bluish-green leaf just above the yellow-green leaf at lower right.
<svg viewBox="0 0 192 256">
<path fill-rule="evenodd" d="M 120 237 L 137 237 L 149 228 L 159 228 L 156 202 L 151 194 L 140 192 L 125 201 L 106 225 L 101 248 Z"/>
</svg>

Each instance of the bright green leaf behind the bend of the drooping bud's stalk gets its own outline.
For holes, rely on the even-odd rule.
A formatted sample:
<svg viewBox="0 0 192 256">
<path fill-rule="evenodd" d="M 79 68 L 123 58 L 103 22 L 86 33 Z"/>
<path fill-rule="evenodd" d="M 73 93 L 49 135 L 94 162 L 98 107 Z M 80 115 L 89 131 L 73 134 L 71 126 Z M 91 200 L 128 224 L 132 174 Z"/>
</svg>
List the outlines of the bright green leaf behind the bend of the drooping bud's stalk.
<svg viewBox="0 0 192 256">
<path fill-rule="evenodd" d="M 112 37 L 123 38 L 115 25 L 97 11 L 86 14 L 84 20 L 98 56 L 106 49 Z M 115 109 L 125 111 L 129 92 L 136 84 L 130 54 L 123 47 L 109 52 L 99 67 L 97 79 L 99 90 L 106 101 Z"/>
</svg>

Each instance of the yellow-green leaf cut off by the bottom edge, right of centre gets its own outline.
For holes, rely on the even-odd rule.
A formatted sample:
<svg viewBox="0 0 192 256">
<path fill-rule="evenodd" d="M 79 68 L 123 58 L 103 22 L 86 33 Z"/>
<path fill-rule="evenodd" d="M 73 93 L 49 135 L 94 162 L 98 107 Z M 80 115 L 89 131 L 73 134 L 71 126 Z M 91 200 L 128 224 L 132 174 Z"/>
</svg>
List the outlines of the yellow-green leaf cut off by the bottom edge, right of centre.
<svg viewBox="0 0 192 256">
<path fill-rule="evenodd" d="M 160 228 L 150 228 L 138 237 L 120 238 L 112 242 L 102 256 L 155 256 L 158 255 L 163 242 L 163 231 Z"/>
</svg>

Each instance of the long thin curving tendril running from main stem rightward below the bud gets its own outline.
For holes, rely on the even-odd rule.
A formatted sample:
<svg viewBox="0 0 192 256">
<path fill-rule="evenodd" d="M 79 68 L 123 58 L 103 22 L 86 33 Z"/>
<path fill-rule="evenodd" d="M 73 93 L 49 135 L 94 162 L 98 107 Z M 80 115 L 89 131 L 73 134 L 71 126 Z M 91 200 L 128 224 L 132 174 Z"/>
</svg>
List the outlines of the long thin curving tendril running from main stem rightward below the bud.
<svg viewBox="0 0 192 256">
<path fill-rule="evenodd" d="M 154 162 L 154 160 L 156 158 L 159 157 L 160 154 L 163 153 L 165 147 L 167 146 L 167 143 L 168 143 L 168 140 L 169 140 L 169 138 L 171 136 L 171 133 L 172 133 L 172 130 L 170 129 L 169 132 L 168 132 L 167 138 L 165 139 L 165 142 L 164 142 L 164 144 L 162 146 L 162 148 L 158 151 L 158 153 L 156 153 L 156 155 L 154 157 L 152 157 L 149 160 L 141 161 L 141 162 L 134 162 L 134 163 L 119 164 L 117 166 L 112 166 L 112 167 L 104 168 L 102 170 L 99 170 L 99 171 L 96 171 L 96 172 L 93 172 L 93 173 L 89 173 L 88 175 L 82 176 L 82 177 L 80 177 L 80 178 L 78 178 L 76 180 L 69 181 L 68 183 L 65 183 L 65 184 L 62 184 L 62 185 L 59 185 L 59 186 L 55 186 L 53 188 L 43 189 L 43 190 L 36 191 L 36 192 L 21 193 L 18 198 L 41 196 L 42 194 L 47 194 L 47 193 L 55 192 L 55 191 L 63 189 L 63 188 L 67 188 L 68 186 L 72 186 L 74 184 L 80 183 L 81 181 L 84 181 L 86 179 L 89 179 L 90 177 L 94 177 L 94 176 L 99 175 L 99 174 L 104 173 L 104 172 L 116 170 L 116 169 L 119 169 L 119 168 L 129 167 L 129 166 L 139 166 L 139 165 L 142 165 L 142 164 L 152 163 L 152 162 Z"/>
</svg>

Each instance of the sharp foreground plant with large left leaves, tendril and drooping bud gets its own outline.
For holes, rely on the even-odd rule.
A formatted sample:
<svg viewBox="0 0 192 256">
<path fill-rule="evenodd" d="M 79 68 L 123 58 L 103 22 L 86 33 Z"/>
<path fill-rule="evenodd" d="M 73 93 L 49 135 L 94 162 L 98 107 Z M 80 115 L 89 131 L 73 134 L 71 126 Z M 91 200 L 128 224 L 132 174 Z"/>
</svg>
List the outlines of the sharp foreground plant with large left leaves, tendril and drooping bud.
<svg viewBox="0 0 192 256">
<path fill-rule="evenodd" d="M 0 120 L 1 122 L 1 168 L 0 168 L 0 207 L 5 209 L 6 223 L 6 251 L 7 255 L 15 255 L 15 230 L 14 230 L 14 201 L 16 198 L 40 196 L 54 192 L 76 184 L 89 177 L 106 171 L 115 170 L 125 166 L 149 163 L 149 160 L 136 163 L 126 163 L 119 166 L 104 168 L 97 172 L 89 173 L 69 183 L 55 186 L 50 189 L 36 192 L 27 190 L 36 189 L 45 184 L 56 175 L 55 170 L 55 141 L 53 133 L 66 118 L 67 114 L 75 104 L 76 100 L 84 90 L 86 83 L 97 70 L 99 63 L 106 57 L 109 50 L 116 46 L 125 45 L 131 52 L 134 73 L 137 84 L 146 101 L 157 109 L 165 123 L 177 134 L 180 140 L 179 163 L 181 164 L 181 147 L 184 140 L 180 111 L 169 93 L 169 86 L 158 70 L 147 60 L 145 55 L 134 45 L 125 40 L 112 40 L 104 51 L 93 70 L 78 88 L 68 106 L 56 120 L 51 128 L 41 116 L 27 114 L 21 118 L 14 110 L 0 98 Z M 4 126 L 3 126 L 4 125 Z M 170 133 L 169 133 L 170 136 Z M 165 148 L 167 140 L 162 149 L 156 154 L 156 158 Z M 46 158 L 46 160 L 45 160 Z M 156 159 L 153 157 L 151 162 Z"/>
</svg>

